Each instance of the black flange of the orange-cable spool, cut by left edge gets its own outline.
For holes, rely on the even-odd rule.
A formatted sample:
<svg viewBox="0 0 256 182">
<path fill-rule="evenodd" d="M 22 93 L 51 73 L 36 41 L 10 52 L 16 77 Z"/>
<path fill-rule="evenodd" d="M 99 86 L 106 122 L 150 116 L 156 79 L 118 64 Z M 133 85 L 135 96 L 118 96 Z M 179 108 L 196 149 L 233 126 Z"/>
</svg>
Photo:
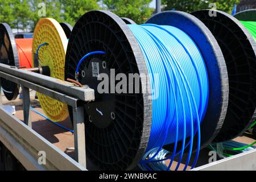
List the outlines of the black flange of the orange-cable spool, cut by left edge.
<svg viewBox="0 0 256 182">
<path fill-rule="evenodd" d="M 0 24 L 0 62 L 14 67 L 19 67 L 18 51 L 11 27 L 7 23 Z M 15 100 L 19 94 L 19 85 L 1 78 L 1 86 L 5 91 L 7 100 Z"/>
</svg>

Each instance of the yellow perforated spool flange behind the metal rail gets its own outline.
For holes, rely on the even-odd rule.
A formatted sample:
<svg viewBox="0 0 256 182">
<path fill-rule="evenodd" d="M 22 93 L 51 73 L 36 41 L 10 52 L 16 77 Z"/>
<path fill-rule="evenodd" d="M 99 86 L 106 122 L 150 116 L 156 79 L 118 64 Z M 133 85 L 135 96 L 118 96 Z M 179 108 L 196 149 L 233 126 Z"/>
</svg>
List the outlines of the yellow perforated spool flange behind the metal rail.
<svg viewBox="0 0 256 182">
<path fill-rule="evenodd" d="M 39 66 L 48 66 L 51 77 L 64 80 L 68 39 L 63 28 L 55 19 L 43 18 L 36 24 L 32 43 L 32 60 L 34 60 L 34 53 L 43 43 L 48 43 L 48 45 L 39 49 Z M 32 62 L 34 67 L 34 61 Z M 38 93 L 38 98 L 44 113 L 52 121 L 63 121 L 68 117 L 67 104 L 42 93 Z"/>
</svg>

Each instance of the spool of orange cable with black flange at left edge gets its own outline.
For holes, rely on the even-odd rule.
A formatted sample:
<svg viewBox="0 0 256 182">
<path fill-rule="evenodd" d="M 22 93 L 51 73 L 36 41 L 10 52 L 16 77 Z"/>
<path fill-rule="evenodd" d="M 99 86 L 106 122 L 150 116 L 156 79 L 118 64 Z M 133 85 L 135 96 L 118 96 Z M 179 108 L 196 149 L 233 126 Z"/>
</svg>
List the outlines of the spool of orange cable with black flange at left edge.
<svg viewBox="0 0 256 182">
<path fill-rule="evenodd" d="M 16 68 L 31 68 L 32 39 L 15 39 L 9 24 L 1 23 L 0 42 L 0 63 Z M 18 97 L 18 84 L 2 78 L 1 86 L 8 100 Z"/>
</svg>

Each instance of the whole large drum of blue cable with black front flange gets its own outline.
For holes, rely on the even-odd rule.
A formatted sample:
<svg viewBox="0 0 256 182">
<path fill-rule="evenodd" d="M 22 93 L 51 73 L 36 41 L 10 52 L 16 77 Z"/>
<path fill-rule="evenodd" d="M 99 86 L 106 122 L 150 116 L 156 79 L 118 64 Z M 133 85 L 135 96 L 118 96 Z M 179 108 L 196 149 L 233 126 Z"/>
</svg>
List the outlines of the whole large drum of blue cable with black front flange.
<svg viewBox="0 0 256 182">
<path fill-rule="evenodd" d="M 188 151 L 186 169 L 192 151 L 198 156 L 225 118 L 228 76 L 210 31 L 194 16 L 177 11 L 155 15 L 147 23 L 127 25 L 109 11 L 90 11 L 71 32 L 65 79 L 75 79 L 77 69 L 84 72 L 77 79 L 94 89 L 96 98 L 84 105 L 88 169 L 127 170 L 138 163 L 148 168 L 146 163 L 156 156 L 166 160 L 162 151 L 166 144 L 172 149 L 172 160 L 180 155 L 179 164 Z M 96 51 L 104 54 L 91 54 L 81 62 Z M 95 67 L 109 77 L 110 69 L 126 76 L 143 73 L 150 82 L 140 82 L 139 93 L 98 93 L 101 81 L 94 76 Z M 151 100 L 151 90 L 158 84 L 159 97 Z M 144 86 L 149 88 L 147 93 L 142 92 L 148 89 Z M 196 160 L 192 167 L 195 164 Z"/>
</svg>

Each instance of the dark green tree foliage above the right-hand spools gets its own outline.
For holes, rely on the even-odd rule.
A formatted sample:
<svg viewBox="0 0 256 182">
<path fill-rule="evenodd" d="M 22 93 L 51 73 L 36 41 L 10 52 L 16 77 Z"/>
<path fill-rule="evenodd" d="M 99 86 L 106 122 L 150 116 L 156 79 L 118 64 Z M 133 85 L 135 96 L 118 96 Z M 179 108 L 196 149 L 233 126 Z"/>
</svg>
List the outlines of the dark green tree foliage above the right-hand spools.
<svg viewBox="0 0 256 182">
<path fill-rule="evenodd" d="M 216 3 L 217 10 L 231 13 L 234 4 L 239 3 L 240 0 L 218 0 L 216 2 L 207 0 L 163 0 L 163 5 L 166 5 L 165 10 L 178 10 L 191 13 L 201 9 L 211 9 L 210 3 Z"/>
</svg>

